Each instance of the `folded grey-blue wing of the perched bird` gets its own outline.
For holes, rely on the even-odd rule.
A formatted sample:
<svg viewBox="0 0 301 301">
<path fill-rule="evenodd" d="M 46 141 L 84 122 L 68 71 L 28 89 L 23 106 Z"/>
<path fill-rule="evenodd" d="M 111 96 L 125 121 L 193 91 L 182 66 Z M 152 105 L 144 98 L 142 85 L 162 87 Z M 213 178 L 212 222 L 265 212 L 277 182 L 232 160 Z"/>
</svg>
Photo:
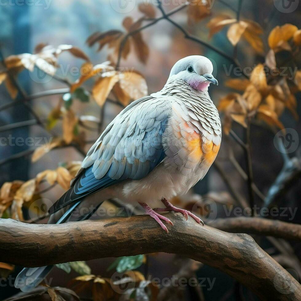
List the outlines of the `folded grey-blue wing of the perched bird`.
<svg viewBox="0 0 301 301">
<path fill-rule="evenodd" d="M 161 140 L 170 110 L 166 97 L 147 96 L 121 111 L 88 151 L 80 174 L 50 213 L 122 180 L 138 180 L 151 172 L 165 156 Z"/>
</svg>

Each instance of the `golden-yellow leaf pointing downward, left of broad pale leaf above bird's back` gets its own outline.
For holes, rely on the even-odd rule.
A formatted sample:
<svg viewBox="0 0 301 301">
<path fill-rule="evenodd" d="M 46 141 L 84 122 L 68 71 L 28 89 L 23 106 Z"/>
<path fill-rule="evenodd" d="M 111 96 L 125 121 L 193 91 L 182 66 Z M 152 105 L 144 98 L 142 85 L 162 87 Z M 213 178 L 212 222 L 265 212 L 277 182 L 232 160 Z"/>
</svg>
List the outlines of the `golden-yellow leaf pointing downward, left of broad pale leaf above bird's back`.
<svg viewBox="0 0 301 301">
<path fill-rule="evenodd" d="M 112 88 L 119 80 L 119 75 L 116 72 L 112 72 L 110 75 L 100 77 L 98 80 L 96 80 L 96 83 L 92 89 L 92 96 L 100 107 L 104 105 Z"/>
</svg>

